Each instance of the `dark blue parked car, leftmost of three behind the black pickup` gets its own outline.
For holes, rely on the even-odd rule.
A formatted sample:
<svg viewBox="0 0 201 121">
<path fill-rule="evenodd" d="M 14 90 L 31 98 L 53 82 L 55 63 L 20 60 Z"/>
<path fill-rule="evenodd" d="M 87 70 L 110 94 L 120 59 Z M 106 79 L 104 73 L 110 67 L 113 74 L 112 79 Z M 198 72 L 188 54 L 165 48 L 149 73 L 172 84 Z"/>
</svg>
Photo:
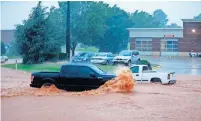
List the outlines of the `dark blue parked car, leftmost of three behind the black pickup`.
<svg viewBox="0 0 201 121">
<path fill-rule="evenodd" d="M 93 57 L 95 53 L 92 52 L 82 52 L 78 53 L 71 60 L 72 63 L 90 63 L 91 57 Z"/>
</svg>

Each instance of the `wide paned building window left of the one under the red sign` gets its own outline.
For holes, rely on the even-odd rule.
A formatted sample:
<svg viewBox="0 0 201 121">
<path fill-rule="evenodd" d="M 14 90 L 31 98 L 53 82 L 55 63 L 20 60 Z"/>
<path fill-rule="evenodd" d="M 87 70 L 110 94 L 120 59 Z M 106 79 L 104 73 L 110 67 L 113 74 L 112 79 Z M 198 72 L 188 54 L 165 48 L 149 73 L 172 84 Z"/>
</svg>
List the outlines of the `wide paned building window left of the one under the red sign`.
<svg viewBox="0 0 201 121">
<path fill-rule="evenodd" d="M 135 49 L 138 51 L 152 51 L 152 39 L 137 38 L 135 41 Z"/>
</svg>

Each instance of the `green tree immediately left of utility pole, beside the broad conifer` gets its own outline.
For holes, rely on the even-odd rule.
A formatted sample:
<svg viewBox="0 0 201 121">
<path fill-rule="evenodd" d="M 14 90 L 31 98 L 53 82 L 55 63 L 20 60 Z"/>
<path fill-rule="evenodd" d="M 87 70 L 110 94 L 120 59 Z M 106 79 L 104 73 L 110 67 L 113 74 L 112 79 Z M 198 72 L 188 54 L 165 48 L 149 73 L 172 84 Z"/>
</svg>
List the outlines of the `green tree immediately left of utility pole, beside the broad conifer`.
<svg viewBox="0 0 201 121">
<path fill-rule="evenodd" d="M 51 7 L 46 19 L 45 53 L 60 53 L 61 46 L 65 44 L 65 26 L 61 18 L 61 12 Z"/>
</svg>

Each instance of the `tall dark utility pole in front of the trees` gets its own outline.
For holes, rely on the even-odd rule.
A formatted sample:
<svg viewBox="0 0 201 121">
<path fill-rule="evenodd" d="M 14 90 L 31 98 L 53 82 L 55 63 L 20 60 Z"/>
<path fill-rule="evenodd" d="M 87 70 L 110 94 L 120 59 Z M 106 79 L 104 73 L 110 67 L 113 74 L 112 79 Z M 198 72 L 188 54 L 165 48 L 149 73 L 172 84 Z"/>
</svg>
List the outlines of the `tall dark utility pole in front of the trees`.
<svg viewBox="0 0 201 121">
<path fill-rule="evenodd" d="M 66 54 L 67 61 L 70 61 L 70 1 L 67 1 L 66 9 Z"/>
</svg>

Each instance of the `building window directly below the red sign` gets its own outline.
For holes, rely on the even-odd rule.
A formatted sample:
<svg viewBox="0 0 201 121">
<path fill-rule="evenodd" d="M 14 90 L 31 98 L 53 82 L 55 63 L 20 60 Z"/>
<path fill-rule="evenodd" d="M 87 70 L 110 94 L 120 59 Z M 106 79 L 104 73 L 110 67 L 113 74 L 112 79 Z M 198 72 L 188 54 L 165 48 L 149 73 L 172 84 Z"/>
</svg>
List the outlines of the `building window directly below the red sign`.
<svg viewBox="0 0 201 121">
<path fill-rule="evenodd" d="M 163 52 L 178 52 L 178 39 L 162 39 L 161 51 Z"/>
</svg>

